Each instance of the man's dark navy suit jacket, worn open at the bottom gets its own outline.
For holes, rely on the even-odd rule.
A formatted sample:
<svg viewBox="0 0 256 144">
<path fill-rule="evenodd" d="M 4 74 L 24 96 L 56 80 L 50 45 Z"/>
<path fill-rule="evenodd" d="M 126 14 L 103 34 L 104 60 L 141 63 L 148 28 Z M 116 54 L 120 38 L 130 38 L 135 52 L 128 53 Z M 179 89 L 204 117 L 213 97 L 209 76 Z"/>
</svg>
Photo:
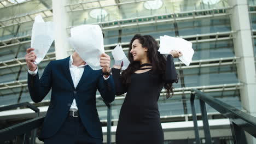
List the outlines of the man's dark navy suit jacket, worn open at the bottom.
<svg viewBox="0 0 256 144">
<path fill-rule="evenodd" d="M 88 133 L 97 139 L 102 139 L 101 122 L 96 109 L 96 91 L 104 101 L 111 103 L 115 96 L 113 78 L 104 80 L 102 70 L 92 70 L 89 65 L 74 88 L 69 70 L 69 57 L 51 61 L 44 69 L 42 77 L 28 74 L 28 90 L 31 99 L 39 103 L 51 89 L 51 100 L 44 118 L 39 139 L 53 136 L 60 129 L 68 115 L 73 99 L 77 103 L 79 116 Z"/>
</svg>

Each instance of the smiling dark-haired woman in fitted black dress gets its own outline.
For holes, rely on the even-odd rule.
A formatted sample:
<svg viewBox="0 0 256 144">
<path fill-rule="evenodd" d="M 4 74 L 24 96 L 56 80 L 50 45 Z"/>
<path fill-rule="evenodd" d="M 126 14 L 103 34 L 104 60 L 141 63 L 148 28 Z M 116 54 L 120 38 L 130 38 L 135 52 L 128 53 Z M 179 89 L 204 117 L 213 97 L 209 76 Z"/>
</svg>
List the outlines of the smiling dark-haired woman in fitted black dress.
<svg viewBox="0 0 256 144">
<path fill-rule="evenodd" d="M 166 97 L 170 97 L 172 83 L 177 82 L 173 58 L 182 54 L 173 50 L 166 59 L 158 49 L 153 37 L 136 34 L 130 42 L 129 67 L 120 75 L 121 67 L 114 65 L 115 94 L 126 93 L 117 125 L 117 144 L 164 141 L 158 99 L 163 87 Z"/>
</svg>

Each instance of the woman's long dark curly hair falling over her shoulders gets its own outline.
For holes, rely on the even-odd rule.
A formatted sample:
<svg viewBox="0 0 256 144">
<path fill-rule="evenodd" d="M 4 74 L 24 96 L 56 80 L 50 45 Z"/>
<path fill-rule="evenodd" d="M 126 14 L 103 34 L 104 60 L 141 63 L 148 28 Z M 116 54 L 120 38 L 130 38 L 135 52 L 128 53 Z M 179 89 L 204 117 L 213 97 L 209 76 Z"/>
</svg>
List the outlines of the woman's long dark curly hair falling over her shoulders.
<svg viewBox="0 0 256 144">
<path fill-rule="evenodd" d="M 132 53 L 130 53 L 132 49 L 132 43 L 136 39 L 139 40 L 139 43 L 142 45 L 142 47 L 148 48 L 147 56 L 153 67 L 152 73 L 159 74 L 162 77 L 165 77 L 166 57 L 164 55 L 161 55 L 160 52 L 158 52 L 158 49 L 159 49 L 158 42 L 151 35 L 136 34 L 131 39 L 131 42 L 129 45 L 128 58 L 129 58 L 130 64 L 127 67 L 127 69 L 124 70 L 123 73 L 121 74 L 121 78 L 123 79 L 123 83 L 125 86 L 130 85 L 131 75 L 135 73 L 135 71 L 139 70 L 140 68 L 139 67 L 140 62 L 133 61 Z M 166 89 L 166 98 L 170 97 L 170 92 L 172 92 L 172 95 L 173 95 L 172 83 L 164 83 L 164 88 Z"/>
</svg>

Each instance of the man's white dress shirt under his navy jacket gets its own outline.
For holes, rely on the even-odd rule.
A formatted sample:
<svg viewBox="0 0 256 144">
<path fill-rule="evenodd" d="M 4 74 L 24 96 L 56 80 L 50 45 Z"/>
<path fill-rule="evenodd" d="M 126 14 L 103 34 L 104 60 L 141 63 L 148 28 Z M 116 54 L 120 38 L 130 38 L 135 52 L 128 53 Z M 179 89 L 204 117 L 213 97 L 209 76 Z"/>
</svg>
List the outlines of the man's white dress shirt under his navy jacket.
<svg viewBox="0 0 256 144">
<path fill-rule="evenodd" d="M 84 67 L 85 67 L 85 65 L 87 65 L 87 63 L 84 65 L 79 65 L 78 67 L 73 65 L 72 63 L 73 63 L 73 57 L 71 55 L 69 58 L 69 70 L 70 70 L 70 74 L 71 74 L 71 77 L 73 80 L 74 87 L 76 88 L 78 85 L 78 82 L 80 81 L 80 79 L 84 73 Z M 38 71 L 38 69 L 36 69 L 35 71 L 31 71 L 28 69 L 28 73 L 31 75 L 36 75 L 37 71 Z M 86 73 L 86 71 L 85 71 L 85 73 Z M 104 78 L 104 80 L 107 80 L 109 78 L 109 76 L 107 78 L 103 76 L 103 78 Z M 77 107 L 77 103 L 75 102 L 75 99 L 73 99 L 73 103 L 70 107 L 70 110 L 78 111 L 78 107 Z"/>
</svg>

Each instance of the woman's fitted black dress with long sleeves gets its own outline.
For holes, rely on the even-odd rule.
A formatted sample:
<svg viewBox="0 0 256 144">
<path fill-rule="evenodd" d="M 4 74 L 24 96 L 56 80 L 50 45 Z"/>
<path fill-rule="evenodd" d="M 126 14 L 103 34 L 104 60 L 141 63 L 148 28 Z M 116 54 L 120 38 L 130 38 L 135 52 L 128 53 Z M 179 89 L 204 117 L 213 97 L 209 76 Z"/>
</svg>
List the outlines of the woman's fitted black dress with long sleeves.
<svg viewBox="0 0 256 144">
<path fill-rule="evenodd" d="M 113 69 L 116 95 L 126 93 L 120 110 L 115 141 L 125 143 L 160 144 L 164 141 L 158 99 L 165 82 L 176 82 L 177 73 L 173 57 L 167 56 L 166 75 L 152 74 L 152 70 L 131 75 L 131 85 L 125 87 L 120 69 Z"/>
</svg>

